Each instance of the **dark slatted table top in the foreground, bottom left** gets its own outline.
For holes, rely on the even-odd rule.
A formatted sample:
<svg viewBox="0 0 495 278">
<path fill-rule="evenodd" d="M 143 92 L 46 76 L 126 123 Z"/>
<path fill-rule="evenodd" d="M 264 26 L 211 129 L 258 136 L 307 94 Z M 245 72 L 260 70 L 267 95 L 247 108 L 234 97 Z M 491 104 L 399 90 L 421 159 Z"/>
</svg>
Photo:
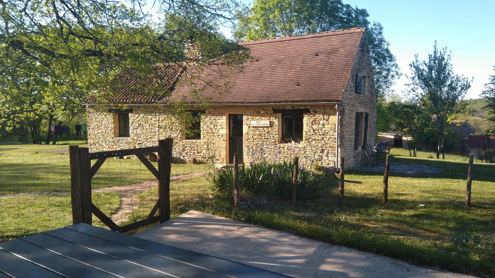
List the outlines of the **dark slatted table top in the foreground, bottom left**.
<svg viewBox="0 0 495 278">
<path fill-rule="evenodd" d="M 87 224 L 76 224 L 0 243 L 0 278 L 4 277 L 289 276 Z"/>
</svg>

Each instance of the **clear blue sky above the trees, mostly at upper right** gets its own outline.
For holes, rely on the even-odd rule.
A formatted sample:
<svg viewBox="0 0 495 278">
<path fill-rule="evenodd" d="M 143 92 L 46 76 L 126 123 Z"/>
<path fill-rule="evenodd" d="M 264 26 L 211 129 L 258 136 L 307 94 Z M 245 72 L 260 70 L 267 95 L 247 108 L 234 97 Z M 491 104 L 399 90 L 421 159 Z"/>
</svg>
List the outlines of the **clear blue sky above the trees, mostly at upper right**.
<svg viewBox="0 0 495 278">
<path fill-rule="evenodd" d="M 384 27 L 384 36 L 400 71 L 410 74 L 414 54 L 427 58 L 437 41 L 452 51 L 454 73 L 474 78 L 466 98 L 477 98 L 495 74 L 495 0 L 343 0 L 366 8 L 371 22 Z M 152 1 L 151 1 L 152 2 Z M 243 0 L 250 5 L 252 0 Z M 151 11 L 152 13 L 152 11 Z M 221 31 L 231 37 L 229 28 Z M 405 76 L 396 81 L 396 93 L 405 91 Z"/>
</svg>

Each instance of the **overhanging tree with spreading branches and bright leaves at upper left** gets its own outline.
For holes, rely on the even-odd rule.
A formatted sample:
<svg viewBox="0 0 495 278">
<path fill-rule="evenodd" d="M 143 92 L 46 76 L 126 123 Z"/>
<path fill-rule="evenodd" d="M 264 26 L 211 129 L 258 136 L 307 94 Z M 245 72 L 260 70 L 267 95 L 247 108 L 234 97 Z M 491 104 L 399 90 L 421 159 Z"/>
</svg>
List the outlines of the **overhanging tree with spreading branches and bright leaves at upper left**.
<svg viewBox="0 0 495 278">
<path fill-rule="evenodd" d="M 36 124 L 38 131 L 45 122 L 49 137 L 52 121 L 85 112 L 82 104 L 89 94 L 100 103 L 118 94 L 122 72 L 152 77 L 153 65 L 175 64 L 190 71 L 184 75 L 190 83 L 201 69 L 228 75 L 242 70 L 249 58 L 249 51 L 217 31 L 219 24 L 237 19 L 235 0 L 157 0 L 159 22 L 142 12 L 143 5 L 141 0 L 0 0 L 0 131 L 19 127 L 21 107 L 29 104 L 9 94 L 37 96 L 40 109 L 22 112 L 23 121 Z M 160 82 L 155 80 L 156 88 Z M 166 97 L 170 91 L 143 93 Z M 184 115 L 184 121 L 193 121 Z"/>
</svg>

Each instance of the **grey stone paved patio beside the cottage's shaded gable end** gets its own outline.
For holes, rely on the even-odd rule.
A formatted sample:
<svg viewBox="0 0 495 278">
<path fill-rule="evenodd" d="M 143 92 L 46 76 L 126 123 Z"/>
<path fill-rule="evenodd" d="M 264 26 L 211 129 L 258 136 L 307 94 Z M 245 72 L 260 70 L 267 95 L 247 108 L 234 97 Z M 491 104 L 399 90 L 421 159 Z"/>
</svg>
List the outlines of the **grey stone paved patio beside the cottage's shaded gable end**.
<svg viewBox="0 0 495 278">
<path fill-rule="evenodd" d="M 358 164 L 354 166 L 354 170 L 384 173 L 385 162 L 378 162 L 376 166 L 371 165 L 370 167 L 367 168 L 365 165 Z M 425 174 L 442 174 L 442 169 L 428 167 L 421 164 L 391 162 L 390 173 L 403 174 L 408 176 L 425 175 Z"/>
</svg>

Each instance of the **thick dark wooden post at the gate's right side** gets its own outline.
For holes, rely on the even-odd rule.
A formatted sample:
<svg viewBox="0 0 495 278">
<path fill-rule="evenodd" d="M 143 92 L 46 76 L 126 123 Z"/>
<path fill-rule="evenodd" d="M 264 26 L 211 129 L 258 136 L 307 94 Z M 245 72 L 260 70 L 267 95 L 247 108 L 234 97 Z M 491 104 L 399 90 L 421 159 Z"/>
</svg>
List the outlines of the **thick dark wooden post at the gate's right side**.
<svg viewBox="0 0 495 278">
<path fill-rule="evenodd" d="M 170 220 L 170 171 L 172 167 L 172 147 L 174 139 L 158 140 L 158 214 L 160 223 Z"/>
</svg>

